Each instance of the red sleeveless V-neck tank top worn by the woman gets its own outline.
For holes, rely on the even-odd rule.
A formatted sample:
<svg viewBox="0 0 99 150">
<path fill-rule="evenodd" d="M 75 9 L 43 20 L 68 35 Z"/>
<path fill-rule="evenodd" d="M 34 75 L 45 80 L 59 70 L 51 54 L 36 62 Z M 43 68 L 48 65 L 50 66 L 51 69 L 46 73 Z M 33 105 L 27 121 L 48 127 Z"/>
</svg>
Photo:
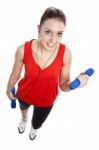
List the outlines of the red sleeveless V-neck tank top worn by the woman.
<svg viewBox="0 0 99 150">
<path fill-rule="evenodd" d="M 32 40 L 24 45 L 25 75 L 18 83 L 17 97 L 37 106 L 51 106 L 58 95 L 58 80 L 63 65 L 65 46 L 59 45 L 54 61 L 45 69 L 41 69 L 32 55 Z"/>
</svg>

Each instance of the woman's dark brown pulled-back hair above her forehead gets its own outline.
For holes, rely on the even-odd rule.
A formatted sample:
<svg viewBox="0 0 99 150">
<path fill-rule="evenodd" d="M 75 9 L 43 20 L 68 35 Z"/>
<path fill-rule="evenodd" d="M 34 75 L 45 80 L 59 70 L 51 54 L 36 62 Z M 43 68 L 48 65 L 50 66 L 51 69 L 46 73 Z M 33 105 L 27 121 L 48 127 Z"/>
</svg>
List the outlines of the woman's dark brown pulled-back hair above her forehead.
<svg viewBox="0 0 99 150">
<path fill-rule="evenodd" d="M 65 14 L 58 8 L 55 7 L 48 7 L 40 20 L 40 26 L 47 20 L 47 19 L 58 19 L 62 21 L 66 25 L 66 16 Z"/>
</svg>

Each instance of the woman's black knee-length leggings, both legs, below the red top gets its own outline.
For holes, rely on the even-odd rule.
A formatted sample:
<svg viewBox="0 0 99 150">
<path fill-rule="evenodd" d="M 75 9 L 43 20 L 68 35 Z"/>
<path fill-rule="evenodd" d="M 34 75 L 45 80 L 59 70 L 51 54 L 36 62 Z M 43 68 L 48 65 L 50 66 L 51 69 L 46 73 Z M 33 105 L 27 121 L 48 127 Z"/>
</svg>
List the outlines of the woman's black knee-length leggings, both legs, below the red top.
<svg viewBox="0 0 99 150">
<path fill-rule="evenodd" d="M 28 104 L 28 103 L 26 103 L 20 99 L 18 99 L 18 101 L 19 101 L 19 105 L 20 105 L 21 110 L 26 110 L 31 106 L 30 104 Z M 31 120 L 31 124 L 32 124 L 34 129 L 39 129 L 42 126 L 42 124 L 44 123 L 44 121 L 48 117 L 52 107 L 53 107 L 53 105 L 50 107 L 36 107 L 36 106 L 34 106 L 32 120 Z"/>
</svg>

